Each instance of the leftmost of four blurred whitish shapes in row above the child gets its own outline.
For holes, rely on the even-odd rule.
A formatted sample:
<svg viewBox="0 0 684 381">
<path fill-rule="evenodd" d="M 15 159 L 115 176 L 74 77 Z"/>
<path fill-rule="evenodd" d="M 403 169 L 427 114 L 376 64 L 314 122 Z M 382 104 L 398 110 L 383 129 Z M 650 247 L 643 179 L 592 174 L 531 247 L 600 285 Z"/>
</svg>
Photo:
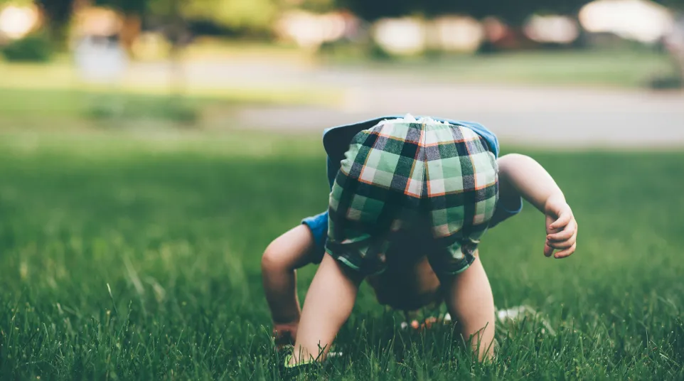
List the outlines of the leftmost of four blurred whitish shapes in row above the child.
<svg viewBox="0 0 684 381">
<path fill-rule="evenodd" d="M 276 26 L 279 38 L 294 41 L 303 48 L 318 48 L 321 44 L 337 41 L 356 27 L 355 18 L 338 13 L 313 14 L 306 11 L 289 11 Z"/>
</svg>

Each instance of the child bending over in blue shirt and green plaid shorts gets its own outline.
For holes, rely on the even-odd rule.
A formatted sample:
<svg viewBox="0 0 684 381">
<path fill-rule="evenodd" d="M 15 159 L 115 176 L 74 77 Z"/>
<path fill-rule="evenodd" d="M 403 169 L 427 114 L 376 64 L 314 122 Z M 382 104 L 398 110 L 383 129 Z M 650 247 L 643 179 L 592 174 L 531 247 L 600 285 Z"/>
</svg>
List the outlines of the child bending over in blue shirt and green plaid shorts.
<svg viewBox="0 0 684 381">
<path fill-rule="evenodd" d="M 527 156 L 497 159 L 496 136 L 480 124 L 386 117 L 328 129 L 324 146 L 328 212 L 262 259 L 276 343 L 295 341 L 287 366 L 324 360 L 363 279 L 403 311 L 444 299 L 461 336 L 491 357 L 494 304 L 477 245 L 521 198 L 545 215 L 544 254 L 575 252 L 577 222 L 555 181 Z M 295 270 L 318 262 L 300 314 Z"/>
</svg>

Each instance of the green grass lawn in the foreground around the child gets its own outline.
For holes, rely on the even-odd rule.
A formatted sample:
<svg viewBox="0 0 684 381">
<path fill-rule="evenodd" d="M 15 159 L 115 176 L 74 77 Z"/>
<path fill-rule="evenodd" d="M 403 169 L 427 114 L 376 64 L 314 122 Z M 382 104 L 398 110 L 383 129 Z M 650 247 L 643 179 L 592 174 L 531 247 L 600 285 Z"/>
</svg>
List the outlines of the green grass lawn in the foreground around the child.
<svg viewBox="0 0 684 381">
<path fill-rule="evenodd" d="M 400 331 L 364 286 L 332 380 L 684 377 L 684 154 L 534 156 L 575 208 L 577 253 L 543 257 L 527 205 L 481 257 L 497 306 L 556 335 L 500 331 L 478 365 L 446 328 Z M 0 379 L 276 380 L 260 255 L 326 200 L 318 134 L 0 135 Z"/>
</svg>

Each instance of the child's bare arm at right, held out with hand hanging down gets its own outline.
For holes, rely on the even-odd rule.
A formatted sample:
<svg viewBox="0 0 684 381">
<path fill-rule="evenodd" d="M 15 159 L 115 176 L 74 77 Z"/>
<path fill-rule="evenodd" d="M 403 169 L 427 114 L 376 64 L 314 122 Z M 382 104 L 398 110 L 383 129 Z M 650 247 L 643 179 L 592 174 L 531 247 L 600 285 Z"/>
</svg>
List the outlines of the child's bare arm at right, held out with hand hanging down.
<svg viewBox="0 0 684 381">
<path fill-rule="evenodd" d="M 577 247 L 577 221 L 565 195 L 537 161 L 520 154 L 498 159 L 500 203 L 515 205 L 522 196 L 546 215 L 547 239 L 544 254 L 565 258 Z"/>
</svg>

